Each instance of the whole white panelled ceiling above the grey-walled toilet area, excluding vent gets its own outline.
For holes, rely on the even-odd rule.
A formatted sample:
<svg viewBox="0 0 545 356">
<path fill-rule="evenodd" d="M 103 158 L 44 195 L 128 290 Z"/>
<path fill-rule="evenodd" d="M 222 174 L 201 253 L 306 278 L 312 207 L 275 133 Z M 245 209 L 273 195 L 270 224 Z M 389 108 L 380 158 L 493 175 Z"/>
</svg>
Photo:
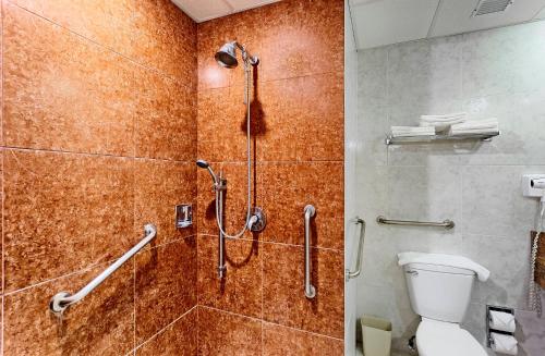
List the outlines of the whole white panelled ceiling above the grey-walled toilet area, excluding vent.
<svg viewBox="0 0 545 356">
<path fill-rule="evenodd" d="M 349 0 L 359 49 L 545 20 L 545 0 L 472 16 L 479 0 Z"/>
</svg>

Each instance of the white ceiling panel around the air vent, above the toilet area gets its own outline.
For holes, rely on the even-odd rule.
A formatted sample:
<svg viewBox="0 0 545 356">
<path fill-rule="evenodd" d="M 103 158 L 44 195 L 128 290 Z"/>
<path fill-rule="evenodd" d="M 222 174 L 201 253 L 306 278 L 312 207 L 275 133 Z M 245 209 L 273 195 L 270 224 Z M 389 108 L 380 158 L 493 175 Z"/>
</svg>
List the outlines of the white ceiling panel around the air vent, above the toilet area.
<svg viewBox="0 0 545 356">
<path fill-rule="evenodd" d="M 534 19 L 545 0 L 513 0 L 505 12 L 472 16 L 479 0 L 441 0 L 431 37 L 518 24 Z"/>
</svg>

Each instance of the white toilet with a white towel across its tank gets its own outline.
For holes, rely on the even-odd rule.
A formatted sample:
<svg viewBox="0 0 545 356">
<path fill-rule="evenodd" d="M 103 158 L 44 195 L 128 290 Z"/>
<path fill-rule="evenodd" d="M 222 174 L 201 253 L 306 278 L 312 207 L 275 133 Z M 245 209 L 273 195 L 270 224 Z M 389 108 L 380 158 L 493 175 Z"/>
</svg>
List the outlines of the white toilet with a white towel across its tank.
<svg viewBox="0 0 545 356">
<path fill-rule="evenodd" d="M 489 272 L 462 256 L 401 253 L 409 297 L 422 317 L 416 330 L 420 356 L 486 356 L 483 346 L 460 322 L 470 304 L 475 278 L 486 281 Z"/>
</svg>

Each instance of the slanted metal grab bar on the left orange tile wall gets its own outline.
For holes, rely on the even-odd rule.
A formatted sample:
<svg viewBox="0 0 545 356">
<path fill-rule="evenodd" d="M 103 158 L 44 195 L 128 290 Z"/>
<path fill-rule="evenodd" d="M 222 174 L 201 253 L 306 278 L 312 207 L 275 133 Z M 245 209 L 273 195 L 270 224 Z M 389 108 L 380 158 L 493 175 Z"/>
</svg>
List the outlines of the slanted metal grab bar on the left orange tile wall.
<svg viewBox="0 0 545 356">
<path fill-rule="evenodd" d="M 124 262 L 126 262 L 131 257 L 133 257 L 137 251 L 140 251 L 144 246 L 152 242 L 157 235 L 157 229 L 153 224 L 146 224 L 144 226 L 145 236 L 137 243 L 133 248 L 131 248 L 126 254 L 121 256 L 116 262 L 111 263 L 102 273 L 98 274 L 93 281 L 86 286 L 80 290 L 75 294 L 70 294 L 68 292 L 59 292 L 49 302 L 49 309 L 56 314 L 62 314 L 69 306 L 75 304 L 83 299 L 87 294 L 93 292 L 100 283 L 102 283 L 111 273 L 116 272 Z"/>
</svg>

